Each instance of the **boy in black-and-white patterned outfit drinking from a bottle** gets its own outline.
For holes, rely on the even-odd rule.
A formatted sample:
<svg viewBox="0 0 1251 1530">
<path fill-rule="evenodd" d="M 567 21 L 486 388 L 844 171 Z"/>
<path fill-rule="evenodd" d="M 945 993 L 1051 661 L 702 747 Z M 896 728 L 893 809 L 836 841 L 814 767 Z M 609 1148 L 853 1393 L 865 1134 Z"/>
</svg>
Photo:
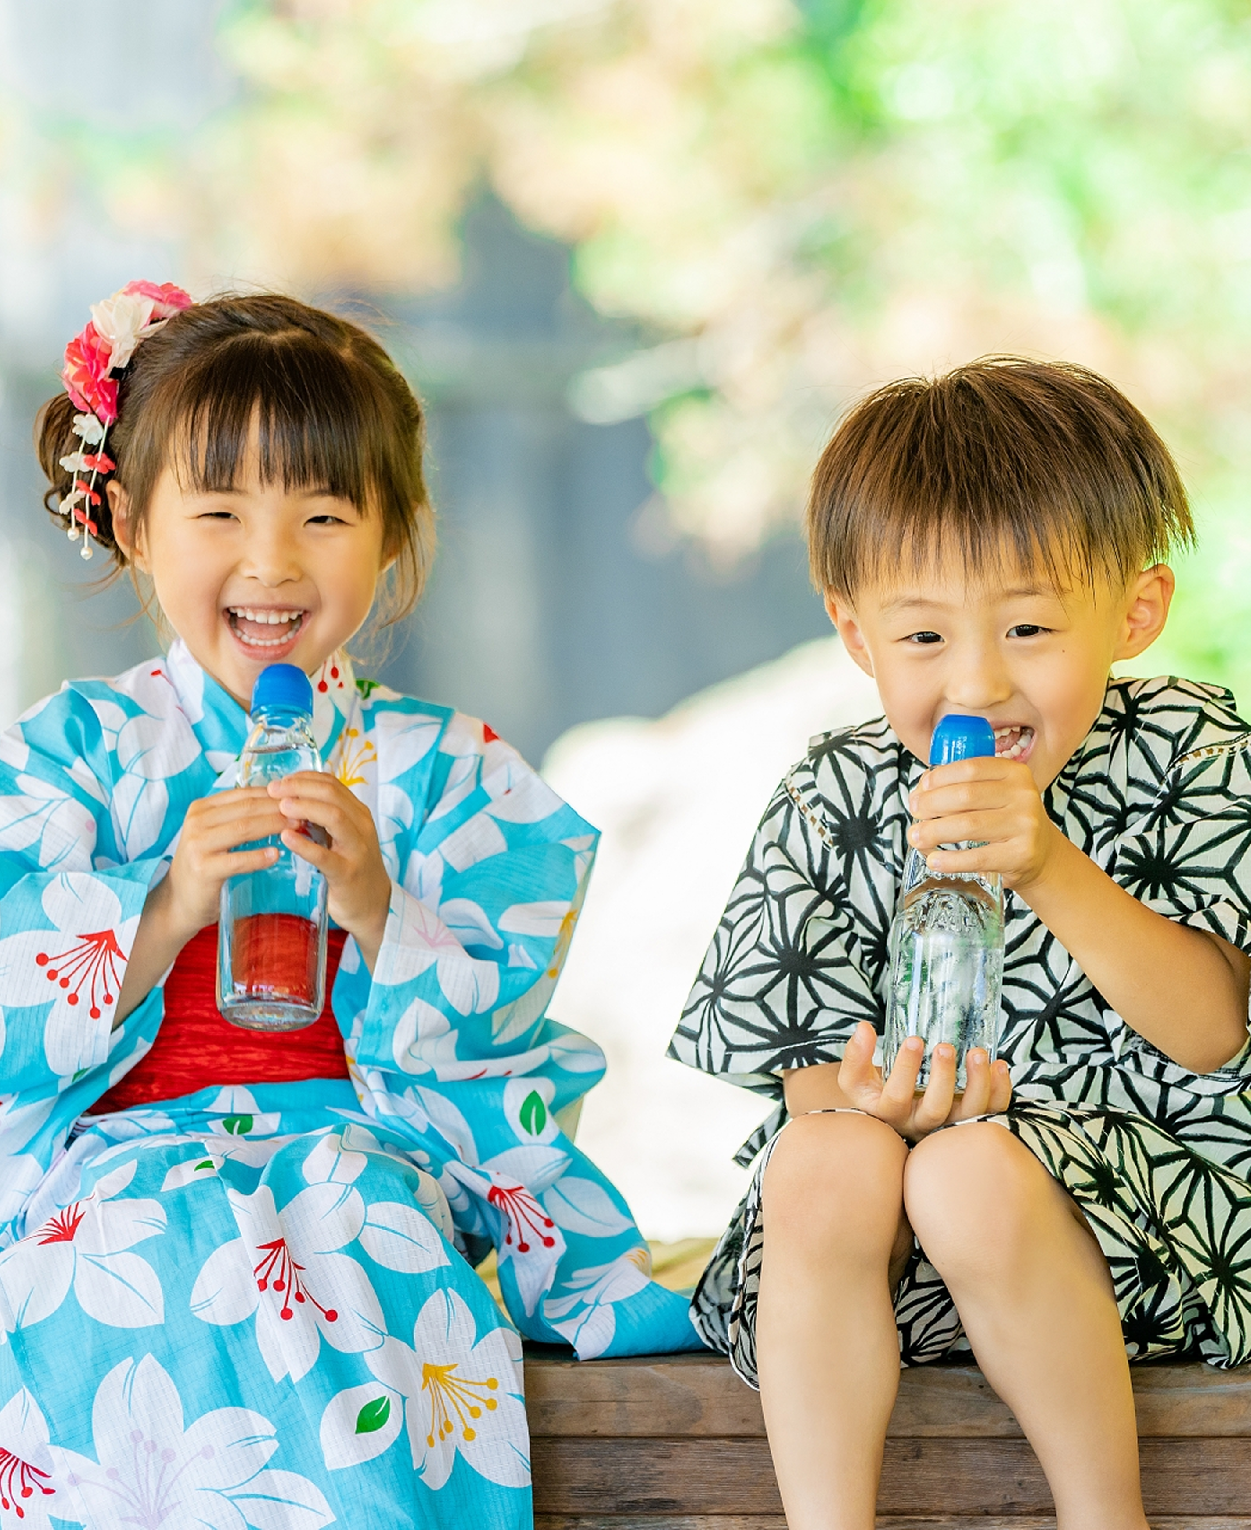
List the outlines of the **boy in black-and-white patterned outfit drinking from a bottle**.
<svg viewBox="0 0 1251 1530">
<path fill-rule="evenodd" d="M 1061 1530 L 1144 1530 L 1127 1356 L 1251 1359 L 1251 733 L 1228 692 L 1109 679 L 1164 627 L 1185 491 L 1103 378 L 1000 360 L 853 410 L 807 526 L 885 716 L 781 783 L 673 1042 L 792 1117 L 696 1319 L 797 1530 L 872 1527 L 901 1356 L 968 1348 Z M 950 711 L 997 756 L 925 771 Z M 919 1040 L 873 1066 L 910 845 L 1009 889 L 963 1099 L 950 1047 L 924 1095 Z"/>
</svg>

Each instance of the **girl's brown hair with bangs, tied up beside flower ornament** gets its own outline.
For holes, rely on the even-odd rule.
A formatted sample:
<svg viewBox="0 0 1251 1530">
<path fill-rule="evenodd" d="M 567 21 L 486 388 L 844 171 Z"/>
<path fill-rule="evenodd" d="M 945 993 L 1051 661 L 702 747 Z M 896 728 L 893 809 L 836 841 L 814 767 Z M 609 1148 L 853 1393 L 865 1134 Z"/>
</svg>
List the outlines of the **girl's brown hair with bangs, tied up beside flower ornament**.
<svg viewBox="0 0 1251 1530">
<path fill-rule="evenodd" d="M 60 459 L 81 445 L 75 405 L 49 399 L 35 424 L 40 465 L 57 503 L 72 474 Z M 387 620 L 411 610 L 434 552 L 434 511 L 422 476 L 425 422 L 392 358 L 358 324 L 292 297 L 223 295 L 176 314 L 144 340 L 119 378 L 118 419 L 104 451 L 116 468 L 96 480 L 96 540 L 116 566 L 104 485 L 130 496 L 142 525 L 161 473 L 176 465 L 197 491 L 237 485 L 254 421 L 263 483 L 318 487 L 379 514 L 387 557 L 396 560 Z"/>
</svg>

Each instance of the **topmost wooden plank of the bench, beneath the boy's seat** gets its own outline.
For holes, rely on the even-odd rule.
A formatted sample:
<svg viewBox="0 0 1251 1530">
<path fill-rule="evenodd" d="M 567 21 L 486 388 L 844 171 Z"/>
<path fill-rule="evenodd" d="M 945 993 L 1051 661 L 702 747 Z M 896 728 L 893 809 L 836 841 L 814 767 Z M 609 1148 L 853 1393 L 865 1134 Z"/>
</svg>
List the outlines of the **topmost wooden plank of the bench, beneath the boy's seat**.
<svg viewBox="0 0 1251 1530">
<path fill-rule="evenodd" d="M 1144 1438 L 1251 1438 L 1251 1366 L 1133 1368 Z M 760 1438 L 760 1397 L 714 1354 L 577 1362 L 528 1354 L 526 1408 L 534 1435 L 593 1438 Z M 1020 1438 L 1020 1426 L 973 1365 L 904 1371 L 890 1435 Z"/>
</svg>

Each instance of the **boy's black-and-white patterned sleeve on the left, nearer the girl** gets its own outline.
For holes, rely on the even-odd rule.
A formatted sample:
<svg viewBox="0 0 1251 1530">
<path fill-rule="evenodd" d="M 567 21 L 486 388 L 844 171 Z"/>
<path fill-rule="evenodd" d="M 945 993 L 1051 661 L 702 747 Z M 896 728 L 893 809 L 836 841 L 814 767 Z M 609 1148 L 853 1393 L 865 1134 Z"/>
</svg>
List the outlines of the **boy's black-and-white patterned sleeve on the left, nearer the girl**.
<svg viewBox="0 0 1251 1530">
<path fill-rule="evenodd" d="M 668 1054 L 762 1094 L 780 1073 L 837 1062 L 852 1031 L 884 1027 L 895 903 L 889 846 L 849 845 L 807 765 L 783 780 L 755 832 Z"/>
</svg>

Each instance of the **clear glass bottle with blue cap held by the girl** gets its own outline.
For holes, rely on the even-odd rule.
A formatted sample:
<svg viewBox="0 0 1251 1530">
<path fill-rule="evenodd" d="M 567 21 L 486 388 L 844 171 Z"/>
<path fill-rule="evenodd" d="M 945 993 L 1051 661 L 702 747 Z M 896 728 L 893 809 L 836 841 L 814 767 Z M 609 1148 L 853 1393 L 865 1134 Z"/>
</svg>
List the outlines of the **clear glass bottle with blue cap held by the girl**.
<svg viewBox="0 0 1251 1530">
<path fill-rule="evenodd" d="M 294 664 L 271 664 L 252 688 L 239 785 L 265 786 L 301 770 L 321 770 L 312 685 Z M 278 849 L 277 863 L 222 887 L 217 1008 L 251 1031 L 295 1031 L 312 1025 L 326 998 L 326 878 L 277 835 L 248 849 L 263 845 Z"/>
</svg>

